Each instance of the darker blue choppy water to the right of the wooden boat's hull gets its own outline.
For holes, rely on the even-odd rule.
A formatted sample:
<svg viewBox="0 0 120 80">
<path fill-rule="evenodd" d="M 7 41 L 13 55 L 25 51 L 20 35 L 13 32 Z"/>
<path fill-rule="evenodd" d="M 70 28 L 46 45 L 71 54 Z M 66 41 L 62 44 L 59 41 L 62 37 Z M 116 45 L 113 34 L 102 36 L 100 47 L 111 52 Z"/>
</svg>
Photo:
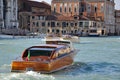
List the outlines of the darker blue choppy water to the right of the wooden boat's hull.
<svg viewBox="0 0 120 80">
<path fill-rule="evenodd" d="M 80 74 L 112 74 L 120 73 L 120 64 L 114 63 L 82 63 L 75 62 L 72 66 L 65 68 L 64 70 L 55 72 L 55 75 L 80 75 Z"/>
</svg>

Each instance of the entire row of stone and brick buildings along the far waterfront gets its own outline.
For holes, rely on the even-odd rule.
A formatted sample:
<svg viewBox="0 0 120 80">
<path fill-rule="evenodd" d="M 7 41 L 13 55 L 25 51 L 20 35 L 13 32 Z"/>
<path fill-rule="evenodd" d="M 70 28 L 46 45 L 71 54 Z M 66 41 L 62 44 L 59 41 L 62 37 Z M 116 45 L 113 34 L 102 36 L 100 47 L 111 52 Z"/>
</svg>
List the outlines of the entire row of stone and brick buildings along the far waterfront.
<svg viewBox="0 0 120 80">
<path fill-rule="evenodd" d="M 0 28 L 83 36 L 91 32 L 113 35 L 114 5 L 114 0 L 52 0 L 51 5 L 30 0 L 0 0 Z"/>
</svg>

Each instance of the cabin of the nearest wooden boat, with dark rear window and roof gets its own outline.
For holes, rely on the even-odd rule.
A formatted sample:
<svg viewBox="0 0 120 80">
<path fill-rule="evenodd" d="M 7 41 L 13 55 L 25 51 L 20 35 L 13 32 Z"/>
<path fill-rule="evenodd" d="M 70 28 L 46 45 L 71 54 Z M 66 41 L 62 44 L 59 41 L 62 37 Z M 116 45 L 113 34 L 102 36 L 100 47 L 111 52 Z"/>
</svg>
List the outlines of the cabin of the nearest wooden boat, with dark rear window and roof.
<svg viewBox="0 0 120 80">
<path fill-rule="evenodd" d="M 30 61 L 50 61 L 65 54 L 71 49 L 67 45 L 32 46 L 23 52 L 22 59 Z"/>
</svg>

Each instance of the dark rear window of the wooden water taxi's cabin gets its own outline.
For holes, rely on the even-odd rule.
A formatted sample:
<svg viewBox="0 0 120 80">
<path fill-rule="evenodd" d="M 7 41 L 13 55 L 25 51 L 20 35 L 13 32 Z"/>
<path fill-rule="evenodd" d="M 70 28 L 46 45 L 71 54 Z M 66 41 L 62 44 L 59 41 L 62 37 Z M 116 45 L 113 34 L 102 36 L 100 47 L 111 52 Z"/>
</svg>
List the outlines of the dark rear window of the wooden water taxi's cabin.
<svg viewBox="0 0 120 80">
<path fill-rule="evenodd" d="M 51 56 L 53 48 L 31 48 L 30 56 Z"/>
</svg>

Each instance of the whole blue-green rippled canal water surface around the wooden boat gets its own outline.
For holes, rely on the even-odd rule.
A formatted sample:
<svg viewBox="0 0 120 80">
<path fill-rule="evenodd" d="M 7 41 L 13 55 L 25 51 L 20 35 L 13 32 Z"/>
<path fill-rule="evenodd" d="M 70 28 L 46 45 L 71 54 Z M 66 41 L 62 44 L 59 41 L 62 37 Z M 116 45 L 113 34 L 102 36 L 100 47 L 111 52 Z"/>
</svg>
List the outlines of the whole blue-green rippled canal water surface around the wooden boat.
<svg viewBox="0 0 120 80">
<path fill-rule="evenodd" d="M 11 73 L 11 62 L 39 38 L 0 39 L 0 80 L 120 80 L 120 37 L 81 37 L 72 66 L 52 74 Z"/>
</svg>

